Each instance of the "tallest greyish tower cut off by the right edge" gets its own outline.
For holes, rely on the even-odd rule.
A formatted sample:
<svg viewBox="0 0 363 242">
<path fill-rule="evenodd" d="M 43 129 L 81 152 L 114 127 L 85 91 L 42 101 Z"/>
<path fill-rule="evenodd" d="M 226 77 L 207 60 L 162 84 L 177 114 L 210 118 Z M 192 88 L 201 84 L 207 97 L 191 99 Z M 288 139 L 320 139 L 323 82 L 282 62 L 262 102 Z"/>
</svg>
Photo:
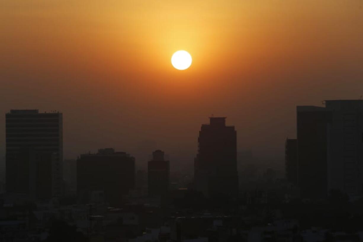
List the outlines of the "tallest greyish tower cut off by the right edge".
<svg viewBox="0 0 363 242">
<path fill-rule="evenodd" d="M 363 100 L 328 100 L 328 189 L 363 195 Z"/>
</svg>

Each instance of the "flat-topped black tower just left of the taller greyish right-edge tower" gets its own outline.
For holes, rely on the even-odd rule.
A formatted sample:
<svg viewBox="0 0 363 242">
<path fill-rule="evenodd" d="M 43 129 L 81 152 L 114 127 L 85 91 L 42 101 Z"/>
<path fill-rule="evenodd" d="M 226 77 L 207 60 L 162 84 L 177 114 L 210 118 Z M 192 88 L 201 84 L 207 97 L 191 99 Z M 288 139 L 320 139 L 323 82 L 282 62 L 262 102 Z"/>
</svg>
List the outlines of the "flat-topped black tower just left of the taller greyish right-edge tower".
<svg viewBox="0 0 363 242">
<path fill-rule="evenodd" d="M 327 124 L 331 112 L 297 107 L 298 187 L 303 198 L 327 196 Z"/>
</svg>

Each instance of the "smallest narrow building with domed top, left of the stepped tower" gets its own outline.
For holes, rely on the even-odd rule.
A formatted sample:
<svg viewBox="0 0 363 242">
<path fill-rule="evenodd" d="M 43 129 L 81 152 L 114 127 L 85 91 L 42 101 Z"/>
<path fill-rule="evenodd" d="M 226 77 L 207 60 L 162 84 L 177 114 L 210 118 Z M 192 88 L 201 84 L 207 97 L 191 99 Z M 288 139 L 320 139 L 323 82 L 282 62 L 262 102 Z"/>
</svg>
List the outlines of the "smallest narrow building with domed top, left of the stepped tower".
<svg viewBox="0 0 363 242">
<path fill-rule="evenodd" d="M 152 152 L 152 161 L 148 162 L 148 194 L 150 196 L 165 195 L 170 183 L 169 161 L 164 161 L 164 152 Z"/>
</svg>

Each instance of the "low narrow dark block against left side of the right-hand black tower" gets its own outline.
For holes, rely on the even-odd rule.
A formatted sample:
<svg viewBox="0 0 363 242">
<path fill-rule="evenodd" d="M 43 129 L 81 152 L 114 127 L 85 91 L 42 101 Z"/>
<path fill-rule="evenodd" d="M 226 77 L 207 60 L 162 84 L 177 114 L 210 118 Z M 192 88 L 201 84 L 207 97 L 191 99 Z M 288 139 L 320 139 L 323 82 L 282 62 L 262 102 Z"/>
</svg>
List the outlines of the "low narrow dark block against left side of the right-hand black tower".
<svg viewBox="0 0 363 242">
<path fill-rule="evenodd" d="M 285 142 L 285 177 L 297 185 L 297 140 L 286 139 Z"/>
</svg>

